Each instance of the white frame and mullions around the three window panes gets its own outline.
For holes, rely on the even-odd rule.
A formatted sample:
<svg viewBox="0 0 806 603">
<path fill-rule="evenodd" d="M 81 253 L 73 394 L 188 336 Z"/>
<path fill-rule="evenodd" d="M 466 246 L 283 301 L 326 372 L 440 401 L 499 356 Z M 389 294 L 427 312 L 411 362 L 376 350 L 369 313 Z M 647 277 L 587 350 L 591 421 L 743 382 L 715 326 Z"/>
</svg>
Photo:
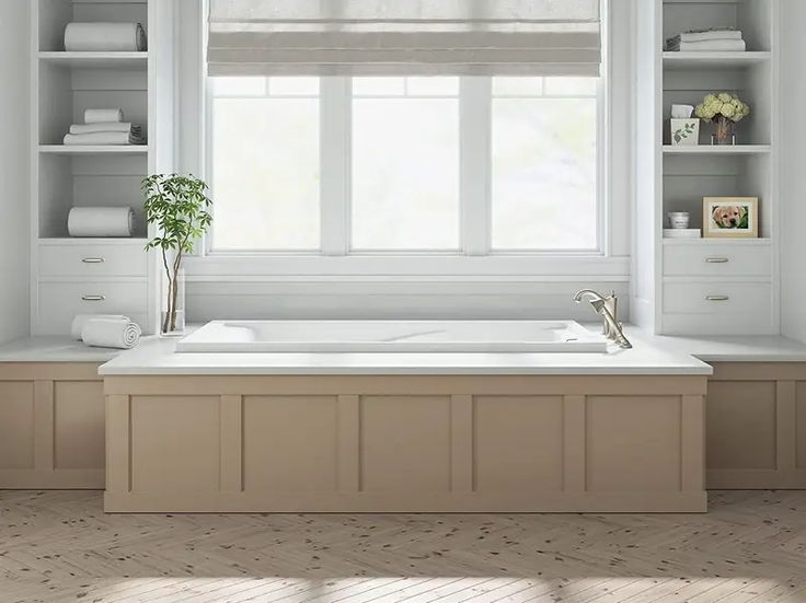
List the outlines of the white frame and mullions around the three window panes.
<svg viewBox="0 0 806 603">
<path fill-rule="evenodd" d="M 606 65 L 606 63 L 604 63 Z M 411 258 L 411 270 L 427 257 L 603 257 L 608 255 L 608 223 L 610 211 L 608 183 L 609 161 L 607 69 L 597 82 L 597 210 L 596 245 L 585 250 L 494 250 L 492 248 L 492 78 L 459 78 L 459 248 L 458 250 L 353 250 L 350 248 L 352 194 L 352 80 L 333 77 L 320 80 L 320 247 L 315 250 L 219 250 L 215 247 L 214 229 L 205 236 L 202 253 L 210 258 L 251 257 L 353 258 L 357 266 L 361 258 Z M 211 78 L 204 78 L 204 152 L 205 175 L 212 181 L 211 152 L 212 102 Z M 577 96 L 574 96 L 577 97 Z M 473 126 L 471 126 L 473 125 Z M 215 190 L 212 198 L 215 199 Z"/>
</svg>

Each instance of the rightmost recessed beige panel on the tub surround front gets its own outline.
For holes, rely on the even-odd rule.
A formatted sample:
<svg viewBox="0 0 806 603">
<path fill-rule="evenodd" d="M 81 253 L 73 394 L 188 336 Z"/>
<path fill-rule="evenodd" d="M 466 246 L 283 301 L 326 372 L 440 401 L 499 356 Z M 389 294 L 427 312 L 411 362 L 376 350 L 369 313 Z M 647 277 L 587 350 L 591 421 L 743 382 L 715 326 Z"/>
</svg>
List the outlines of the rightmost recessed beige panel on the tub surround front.
<svg viewBox="0 0 806 603">
<path fill-rule="evenodd" d="M 589 491 L 680 490 L 679 396 L 589 396 Z"/>
</svg>

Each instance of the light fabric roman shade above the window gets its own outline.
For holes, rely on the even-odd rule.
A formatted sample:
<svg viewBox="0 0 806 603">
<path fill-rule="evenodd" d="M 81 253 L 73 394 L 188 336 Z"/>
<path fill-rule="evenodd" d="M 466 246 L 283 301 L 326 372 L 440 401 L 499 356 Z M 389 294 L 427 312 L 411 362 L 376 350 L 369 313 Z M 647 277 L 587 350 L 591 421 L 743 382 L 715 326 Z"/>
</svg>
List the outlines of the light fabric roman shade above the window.
<svg viewBox="0 0 806 603">
<path fill-rule="evenodd" d="M 597 76 L 600 0 L 210 0 L 211 76 Z"/>
</svg>

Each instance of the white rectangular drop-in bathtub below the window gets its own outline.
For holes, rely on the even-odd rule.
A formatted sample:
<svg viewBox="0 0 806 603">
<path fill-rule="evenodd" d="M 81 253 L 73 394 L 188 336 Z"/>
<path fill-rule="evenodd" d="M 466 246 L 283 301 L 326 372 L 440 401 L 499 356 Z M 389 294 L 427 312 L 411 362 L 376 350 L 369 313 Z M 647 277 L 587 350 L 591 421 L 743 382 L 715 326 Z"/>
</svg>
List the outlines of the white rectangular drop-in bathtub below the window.
<svg viewBox="0 0 806 603">
<path fill-rule="evenodd" d="M 604 352 L 573 321 L 214 321 L 179 352 Z"/>
</svg>

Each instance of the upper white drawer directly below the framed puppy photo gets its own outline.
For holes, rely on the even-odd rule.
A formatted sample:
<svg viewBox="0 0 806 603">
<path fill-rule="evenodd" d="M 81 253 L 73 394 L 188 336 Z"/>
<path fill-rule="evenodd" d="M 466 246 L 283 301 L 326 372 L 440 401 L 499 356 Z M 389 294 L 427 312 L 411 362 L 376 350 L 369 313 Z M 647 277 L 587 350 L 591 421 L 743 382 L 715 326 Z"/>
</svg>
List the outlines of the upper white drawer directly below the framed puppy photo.
<svg viewBox="0 0 806 603">
<path fill-rule="evenodd" d="M 707 244 L 665 245 L 664 276 L 742 277 L 770 276 L 769 245 Z"/>
</svg>

